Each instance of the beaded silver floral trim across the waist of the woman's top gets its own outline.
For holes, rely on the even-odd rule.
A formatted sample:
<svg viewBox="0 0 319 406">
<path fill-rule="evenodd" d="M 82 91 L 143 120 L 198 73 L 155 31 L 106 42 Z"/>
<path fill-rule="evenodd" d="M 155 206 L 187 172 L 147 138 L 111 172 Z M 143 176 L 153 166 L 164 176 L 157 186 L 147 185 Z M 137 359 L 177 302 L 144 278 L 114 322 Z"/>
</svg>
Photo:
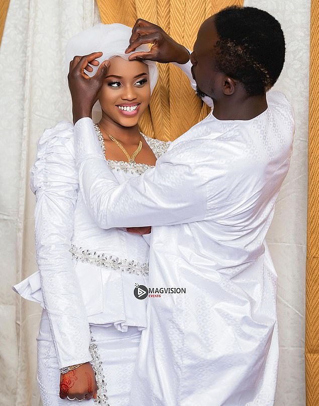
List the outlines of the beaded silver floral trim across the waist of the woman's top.
<svg viewBox="0 0 319 406">
<path fill-rule="evenodd" d="M 135 275 L 148 275 L 148 263 L 140 263 L 134 260 L 122 260 L 118 257 L 107 256 L 106 254 L 97 254 L 94 251 L 84 250 L 82 247 L 77 248 L 73 244 L 70 248 L 70 253 L 72 258 L 81 261 L 87 262 L 89 264 L 95 264 L 98 267 L 102 268 L 111 268 L 116 271 L 127 272 L 129 274 Z"/>
</svg>

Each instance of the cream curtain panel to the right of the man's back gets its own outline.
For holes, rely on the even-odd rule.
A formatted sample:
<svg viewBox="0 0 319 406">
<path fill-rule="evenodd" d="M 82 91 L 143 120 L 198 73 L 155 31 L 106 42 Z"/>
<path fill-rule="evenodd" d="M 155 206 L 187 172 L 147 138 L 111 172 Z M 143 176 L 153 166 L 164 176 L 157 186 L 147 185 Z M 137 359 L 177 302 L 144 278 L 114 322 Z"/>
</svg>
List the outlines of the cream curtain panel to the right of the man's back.
<svg viewBox="0 0 319 406">
<path fill-rule="evenodd" d="M 277 200 L 268 245 L 278 273 L 280 360 L 276 406 L 304 406 L 310 0 L 245 0 L 245 5 L 273 14 L 286 37 L 286 62 L 275 89 L 284 92 L 294 107 L 296 132 L 291 166 Z"/>
</svg>

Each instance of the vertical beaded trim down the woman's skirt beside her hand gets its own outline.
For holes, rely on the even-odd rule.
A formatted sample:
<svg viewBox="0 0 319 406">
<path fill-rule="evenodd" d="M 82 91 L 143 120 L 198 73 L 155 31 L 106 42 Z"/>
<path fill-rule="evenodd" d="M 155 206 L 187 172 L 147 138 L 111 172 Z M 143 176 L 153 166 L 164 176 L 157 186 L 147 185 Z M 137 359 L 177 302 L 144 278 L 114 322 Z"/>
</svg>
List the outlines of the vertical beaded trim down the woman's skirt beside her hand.
<svg viewBox="0 0 319 406">
<path fill-rule="evenodd" d="M 92 357 L 92 368 L 94 369 L 95 372 L 95 379 L 97 381 L 97 386 L 98 386 L 98 390 L 97 390 L 97 398 L 94 399 L 94 401 L 101 405 L 101 406 L 110 406 L 109 403 L 109 396 L 108 396 L 108 391 L 107 391 L 107 383 L 105 381 L 105 376 L 104 376 L 104 372 L 103 372 L 103 364 L 100 358 L 100 354 L 99 354 L 99 348 L 96 344 L 96 341 L 92 335 L 92 331 L 90 329 L 90 333 L 91 333 L 91 343 L 89 346 L 89 351 Z"/>
</svg>

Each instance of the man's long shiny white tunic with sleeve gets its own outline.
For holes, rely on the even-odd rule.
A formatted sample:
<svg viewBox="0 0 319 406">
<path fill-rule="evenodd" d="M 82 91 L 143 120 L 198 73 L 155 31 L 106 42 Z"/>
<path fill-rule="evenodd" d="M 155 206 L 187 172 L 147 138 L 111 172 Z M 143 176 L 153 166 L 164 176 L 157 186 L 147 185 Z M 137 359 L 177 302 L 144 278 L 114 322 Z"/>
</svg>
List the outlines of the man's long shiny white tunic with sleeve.
<svg viewBox="0 0 319 406">
<path fill-rule="evenodd" d="M 118 184 L 92 120 L 74 127 L 79 182 L 100 227 L 152 225 L 149 298 L 132 406 L 270 406 L 276 272 L 265 242 L 289 168 L 294 117 L 270 91 L 247 121 L 210 113 L 138 178 Z"/>
</svg>

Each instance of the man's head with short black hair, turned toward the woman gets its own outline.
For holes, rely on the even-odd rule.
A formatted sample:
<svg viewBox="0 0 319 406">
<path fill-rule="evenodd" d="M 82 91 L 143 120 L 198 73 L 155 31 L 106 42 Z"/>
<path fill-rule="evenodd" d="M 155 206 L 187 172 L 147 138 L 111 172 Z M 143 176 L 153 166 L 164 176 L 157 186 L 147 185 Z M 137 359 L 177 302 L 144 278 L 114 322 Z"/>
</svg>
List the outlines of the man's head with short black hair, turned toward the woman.
<svg viewBox="0 0 319 406">
<path fill-rule="evenodd" d="M 285 59 L 279 22 L 253 7 L 229 7 L 201 25 L 191 55 L 199 96 L 217 100 L 236 87 L 264 95 L 276 83 Z"/>
</svg>

